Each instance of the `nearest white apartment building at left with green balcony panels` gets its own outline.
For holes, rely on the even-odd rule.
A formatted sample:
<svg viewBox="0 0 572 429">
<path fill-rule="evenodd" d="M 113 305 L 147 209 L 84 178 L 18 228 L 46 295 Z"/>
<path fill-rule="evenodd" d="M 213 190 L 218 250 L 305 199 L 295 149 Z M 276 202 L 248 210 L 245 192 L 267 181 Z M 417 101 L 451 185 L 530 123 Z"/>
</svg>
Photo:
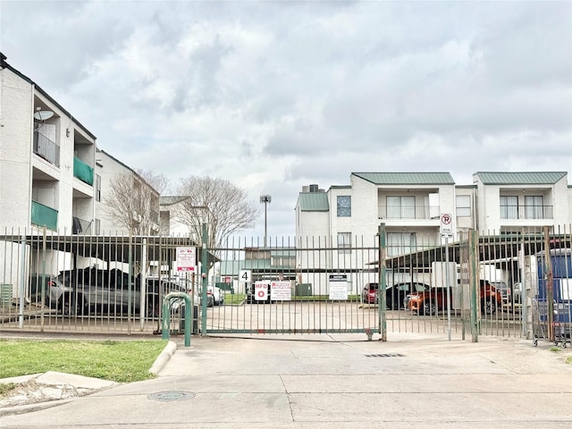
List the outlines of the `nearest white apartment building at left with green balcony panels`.
<svg viewBox="0 0 572 429">
<path fill-rule="evenodd" d="M 2 54 L 0 100 L 0 227 L 93 231 L 96 137 Z"/>
</svg>

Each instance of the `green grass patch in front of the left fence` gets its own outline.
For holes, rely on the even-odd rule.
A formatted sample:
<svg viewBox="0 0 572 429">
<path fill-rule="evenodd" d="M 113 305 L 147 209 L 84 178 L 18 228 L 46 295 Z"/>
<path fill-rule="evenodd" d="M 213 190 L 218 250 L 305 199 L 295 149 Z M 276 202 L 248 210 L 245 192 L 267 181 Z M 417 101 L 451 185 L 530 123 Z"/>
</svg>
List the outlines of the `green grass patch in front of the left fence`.
<svg viewBox="0 0 572 429">
<path fill-rule="evenodd" d="M 148 380 L 154 378 L 149 368 L 166 344 L 166 340 L 0 340 L 0 379 L 56 371 L 118 383 Z"/>
</svg>

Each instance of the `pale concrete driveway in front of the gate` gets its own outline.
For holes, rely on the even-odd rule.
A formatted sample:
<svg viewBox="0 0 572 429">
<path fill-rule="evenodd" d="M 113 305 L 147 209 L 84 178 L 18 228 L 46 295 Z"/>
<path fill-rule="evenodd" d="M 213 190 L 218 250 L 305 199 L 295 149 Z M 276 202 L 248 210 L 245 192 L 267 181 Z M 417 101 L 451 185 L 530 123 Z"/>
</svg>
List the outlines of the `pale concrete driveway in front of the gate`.
<svg viewBox="0 0 572 429">
<path fill-rule="evenodd" d="M 0 427 L 568 428 L 572 421 L 572 365 L 563 362 L 572 350 L 554 352 L 543 341 L 534 348 L 525 340 L 394 333 L 387 342 L 356 334 L 174 342 L 155 380 L 2 416 Z"/>
</svg>

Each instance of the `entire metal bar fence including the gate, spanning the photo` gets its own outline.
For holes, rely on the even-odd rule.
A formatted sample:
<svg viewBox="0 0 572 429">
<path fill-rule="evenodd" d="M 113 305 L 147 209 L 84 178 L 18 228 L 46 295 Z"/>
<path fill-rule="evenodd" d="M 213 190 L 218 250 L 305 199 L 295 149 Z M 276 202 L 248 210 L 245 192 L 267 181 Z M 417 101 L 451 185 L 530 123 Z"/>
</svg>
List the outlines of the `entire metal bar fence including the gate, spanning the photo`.
<svg viewBox="0 0 572 429">
<path fill-rule="evenodd" d="M 388 248 L 384 234 L 382 226 L 342 247 L 331 238 L 267 246 L 233 238 L 223 248 L 196 248 L 197 267 L 181 272 L 178 249 L 195 247 L 185 237 L 4 231 L 0 330 L 160 333 L 164 297 L 184 291 L 194 333 L 533 339 L 543 320 L 534 302 L 550 273 L 542 255 L 571 247 L 569 226 L 467 231 L 443 246 L 407 249 Z M 564 277 L 556 287 L 569 308 L 572 281 Z M 172 332 L 184 329 L 182 304 L 171 303 Z"/>
</svg>

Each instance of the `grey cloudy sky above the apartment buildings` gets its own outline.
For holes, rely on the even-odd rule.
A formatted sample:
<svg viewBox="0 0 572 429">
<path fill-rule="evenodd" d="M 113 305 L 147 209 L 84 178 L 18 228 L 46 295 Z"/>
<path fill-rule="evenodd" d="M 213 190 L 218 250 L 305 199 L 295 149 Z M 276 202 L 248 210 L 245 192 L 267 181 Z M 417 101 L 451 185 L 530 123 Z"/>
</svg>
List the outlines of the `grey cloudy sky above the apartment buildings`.
<svg viewBox="0 0 572 429">
<path fill-rule="evenodd" d="M 351 172 L 572 176 L 572 2 L 5 1 L 0 50 L 133 169 L 228 179 L 268 235 Z M 568 177 L 570 180 L 570 177 Z"/>
</svg>

